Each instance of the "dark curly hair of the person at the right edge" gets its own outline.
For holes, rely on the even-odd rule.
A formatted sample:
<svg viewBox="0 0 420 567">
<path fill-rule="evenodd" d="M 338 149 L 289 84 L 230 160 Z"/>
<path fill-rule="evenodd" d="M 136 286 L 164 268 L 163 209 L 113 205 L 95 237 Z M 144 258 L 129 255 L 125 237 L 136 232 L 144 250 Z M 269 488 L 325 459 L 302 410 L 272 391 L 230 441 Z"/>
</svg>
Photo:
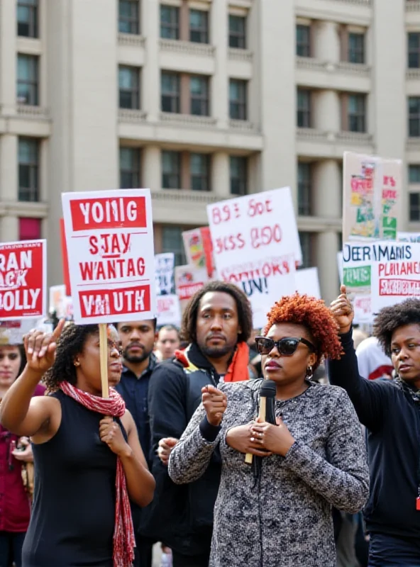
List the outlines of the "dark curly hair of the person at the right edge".
<svg viewBox="0 0 420 567">
<path fill-rule="evenodd" d="M 388 357 L 391 356 L 392 335 L 404 325 L 420 325 L 420 299 L 410 298 L 384 307 L 375 317 L 373 334 Z"/>
</svg>

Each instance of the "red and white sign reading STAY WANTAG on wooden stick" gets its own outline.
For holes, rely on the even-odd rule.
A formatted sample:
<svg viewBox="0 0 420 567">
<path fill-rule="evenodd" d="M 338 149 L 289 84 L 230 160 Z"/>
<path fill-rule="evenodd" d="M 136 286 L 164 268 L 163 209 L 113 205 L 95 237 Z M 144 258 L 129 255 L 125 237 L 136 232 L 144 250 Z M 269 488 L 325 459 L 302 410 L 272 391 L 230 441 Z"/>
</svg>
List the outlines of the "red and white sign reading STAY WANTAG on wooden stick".
<svg viewBox="0 0 420 567">
<path fill-rule="evenodd" d="M 63 193 L 62 208 L 74 322 L 153 319 L 150 191 Z"/>
</svg>

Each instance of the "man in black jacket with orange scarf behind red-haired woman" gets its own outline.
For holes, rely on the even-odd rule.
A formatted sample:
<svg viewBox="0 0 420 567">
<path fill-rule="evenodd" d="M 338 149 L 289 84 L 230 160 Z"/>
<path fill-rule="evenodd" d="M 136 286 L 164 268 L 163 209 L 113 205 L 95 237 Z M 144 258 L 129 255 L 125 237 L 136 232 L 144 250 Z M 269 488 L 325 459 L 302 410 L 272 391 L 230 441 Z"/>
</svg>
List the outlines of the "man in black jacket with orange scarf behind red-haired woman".
<svg viewBox="0 0 420 567">
<path fill-rule="evenodd" d="M 152 472 L 155 498 L 142 532 L 172 549 L 174 567 L 209 564 L 213 509 L 221 460 L 212 457 L 194 483 L 175 485 L 157 454 L 161 439 L 179 437 L 201 403 L 201 388 L 219 381 L 248 379 L 252 313 L 245 294 L 231 283 L 211 282 L 196 293 L 184 312 L 182 335 L 187 351 L 153 371 L 149 388 Z"/>
</svg>

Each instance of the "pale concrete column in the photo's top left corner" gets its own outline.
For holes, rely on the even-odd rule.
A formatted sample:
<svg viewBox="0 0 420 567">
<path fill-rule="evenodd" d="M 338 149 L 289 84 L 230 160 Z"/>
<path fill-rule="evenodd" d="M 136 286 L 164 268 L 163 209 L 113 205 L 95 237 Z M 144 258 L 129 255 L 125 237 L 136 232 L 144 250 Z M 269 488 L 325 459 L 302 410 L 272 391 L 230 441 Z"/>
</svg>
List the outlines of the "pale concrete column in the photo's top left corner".
<svg viewBox="0 0 420 567">
<path fill-rule="evenodd" d="M 4 114 L 16 113 L 16 2 L 0 2 L 0 100 Z"/>
</svg>

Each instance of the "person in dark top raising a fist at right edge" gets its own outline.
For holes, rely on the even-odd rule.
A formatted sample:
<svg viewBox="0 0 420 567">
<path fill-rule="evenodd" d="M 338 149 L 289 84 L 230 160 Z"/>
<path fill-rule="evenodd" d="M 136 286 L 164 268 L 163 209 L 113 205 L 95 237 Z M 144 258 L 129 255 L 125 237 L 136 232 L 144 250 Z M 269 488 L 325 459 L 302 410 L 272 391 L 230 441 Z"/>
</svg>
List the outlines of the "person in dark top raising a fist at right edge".
<svg viewBox="0 0 420 567">
<path fill-rule="evenodd" d="M 329 362 L 331 383 L 345 388 L 367 427 L 370 498 L 365 507 L 370 533 L 369 567 L 420 565 L 420 301 L 411 298 L 383 308 L 374 335 L 397 378 L 360 377 L 352 340 L 353 308 L 346 287 L 331 303 L 340 325 L 344 356 Z"/>
</svg>

